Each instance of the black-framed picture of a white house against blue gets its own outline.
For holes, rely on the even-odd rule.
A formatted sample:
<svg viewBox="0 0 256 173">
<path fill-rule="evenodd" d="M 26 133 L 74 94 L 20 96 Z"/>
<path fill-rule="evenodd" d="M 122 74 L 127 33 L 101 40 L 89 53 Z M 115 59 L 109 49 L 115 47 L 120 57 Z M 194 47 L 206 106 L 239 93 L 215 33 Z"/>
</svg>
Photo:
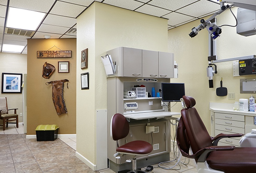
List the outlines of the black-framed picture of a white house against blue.
<svg viewBox="0 0 256 173">
<path fill-rule="evenodd" d="M 22 93 L 21 73 L 2 73 L 2 93 Z"/>
</svg>

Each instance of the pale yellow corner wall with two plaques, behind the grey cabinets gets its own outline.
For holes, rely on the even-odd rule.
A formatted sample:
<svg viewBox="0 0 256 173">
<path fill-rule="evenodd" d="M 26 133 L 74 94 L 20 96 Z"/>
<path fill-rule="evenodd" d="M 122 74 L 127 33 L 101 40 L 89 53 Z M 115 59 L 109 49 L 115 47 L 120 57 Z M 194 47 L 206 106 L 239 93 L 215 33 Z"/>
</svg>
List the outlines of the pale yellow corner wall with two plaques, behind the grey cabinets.
<svg viewBox="0 0 256 173">
<path fill-rule="evenodd" d="M 76 148 L 92 164 L 97 164 L 96 110 L 107 109 L 107 78 L 100 57 L 120 46 L 167 52 L 167 20 L 98 2 L 77 18 Z M 88 69 L 81 70 L 85 48 Z M 81 90 L 80 74 L 85 72 L 89 90 Z"/>
</svg>

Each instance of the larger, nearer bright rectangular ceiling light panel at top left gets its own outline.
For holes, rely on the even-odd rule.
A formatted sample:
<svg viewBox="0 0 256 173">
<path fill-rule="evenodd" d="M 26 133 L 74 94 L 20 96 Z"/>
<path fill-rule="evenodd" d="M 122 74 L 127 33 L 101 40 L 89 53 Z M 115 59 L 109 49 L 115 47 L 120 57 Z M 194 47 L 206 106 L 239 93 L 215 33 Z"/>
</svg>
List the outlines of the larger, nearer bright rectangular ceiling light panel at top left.
<svg viewBox="0 0 256 173">
<path fill-rule="evenodd" d="M 36 30 L 45 13 L 10 7 L 7 24 L 9 28 Z"/>
</svg>

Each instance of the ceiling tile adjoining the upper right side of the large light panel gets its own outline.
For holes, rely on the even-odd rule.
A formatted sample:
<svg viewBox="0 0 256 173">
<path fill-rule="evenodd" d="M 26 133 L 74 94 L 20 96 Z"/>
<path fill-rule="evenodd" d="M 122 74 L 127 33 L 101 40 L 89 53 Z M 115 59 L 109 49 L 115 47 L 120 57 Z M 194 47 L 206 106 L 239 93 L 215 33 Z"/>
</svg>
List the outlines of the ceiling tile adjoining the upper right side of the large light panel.
<svg viewBox="0 0 256 173">
<path fill-rule="evenodd" d="M 43 21 L 43 24 L 64 26 L 71 28 L 76 24 L 76 18 L 64 17 L 58 15 L 49 14 L 46 19 Z"/>
</svg>

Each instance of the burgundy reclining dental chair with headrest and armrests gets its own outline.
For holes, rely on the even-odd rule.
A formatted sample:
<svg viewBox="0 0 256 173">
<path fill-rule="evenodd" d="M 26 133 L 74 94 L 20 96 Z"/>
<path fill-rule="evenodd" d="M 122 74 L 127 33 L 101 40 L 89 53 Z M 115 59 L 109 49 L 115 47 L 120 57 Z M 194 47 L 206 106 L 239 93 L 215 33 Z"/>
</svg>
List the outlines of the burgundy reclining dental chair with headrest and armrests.
<svg viewBox="0 0 256 173">
<path fill-rule="evenodd" d="M 256 148 L 217 146 L 221 138 L 241 137 L 243 134 L 219 134 L 210 137 L 189 96 L 182 97 L 187 108 L 181 110 L 177 128 L 177 145 L 184 157 L 193 158 L 199 173 L 255 173 Z M 191 149 L 191 150 L 190 150 Z M 191 153 L 189 153 L 191 151 Z"/>
</svg>

